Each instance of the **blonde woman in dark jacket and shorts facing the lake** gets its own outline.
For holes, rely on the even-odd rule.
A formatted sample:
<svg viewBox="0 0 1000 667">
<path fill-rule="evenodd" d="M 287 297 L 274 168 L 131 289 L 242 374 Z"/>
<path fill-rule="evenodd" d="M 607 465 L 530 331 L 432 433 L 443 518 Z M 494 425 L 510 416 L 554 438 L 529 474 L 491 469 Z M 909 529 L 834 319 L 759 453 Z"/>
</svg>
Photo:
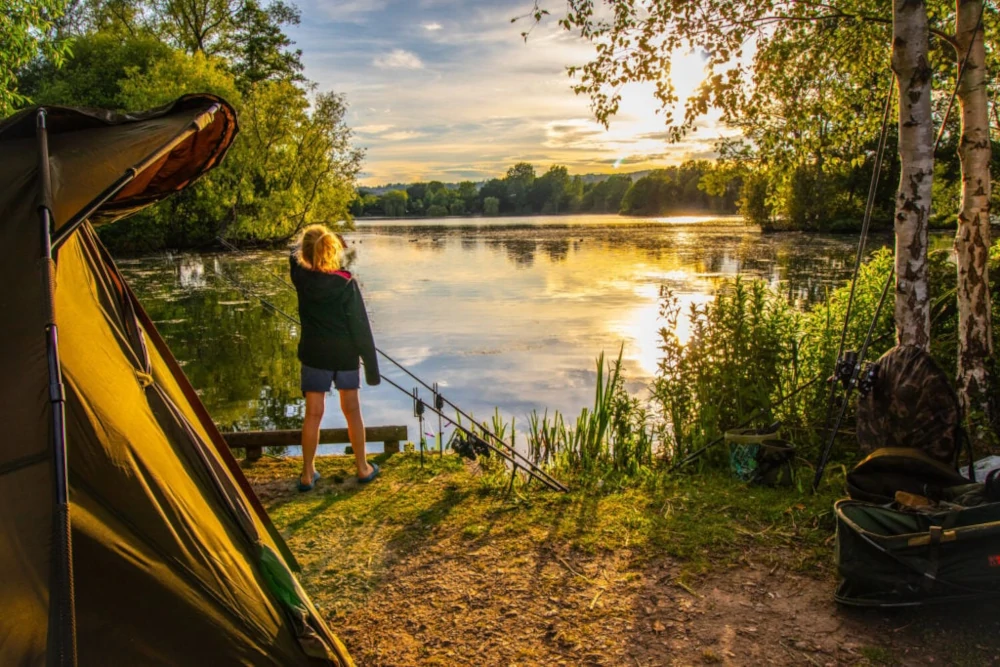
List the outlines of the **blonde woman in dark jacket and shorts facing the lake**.
<svg viewBox="0 0 1000 667">
<path fill-rule="evenodd" d="M 310 225 L 299 234 L 289 258 L 299 297 L 302 331 L 298 356 L 306 398 L 299 491 L 311 491 L 319 479 L 314 465 L 316 447 L 331 385 L 340 392 L 340 409 L 347 419 L 358 479 L 367 483 L 379 474 L 378 465 L 369 465 L 365 457 L 365 423 L 358 398 L 359 359 L 365 364 L 365 381 L 372 387 L 381 382 L 378 359 L 361 289 L 351 274 L 340 268 L 343 251 L 339 235 L 324 225 Z"/>
</svg>

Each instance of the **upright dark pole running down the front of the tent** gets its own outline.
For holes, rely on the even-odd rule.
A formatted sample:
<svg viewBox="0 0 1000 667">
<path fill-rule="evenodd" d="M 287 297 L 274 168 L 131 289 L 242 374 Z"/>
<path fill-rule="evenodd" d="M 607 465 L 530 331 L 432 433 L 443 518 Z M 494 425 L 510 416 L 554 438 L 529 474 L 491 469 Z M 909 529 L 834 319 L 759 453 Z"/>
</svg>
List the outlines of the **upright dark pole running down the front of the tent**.
<svg viewBox="0 0 1000 667">
<path fill-rule="evenodd" d="M 48 663 L 60 667 L 76 665 L 76 604 L 73 590 L 73 540 L 69 506 L 69 474 L 66 465 L 66 395 L 59 362 L 59 332 L 55 310 L 55 262 L 52 260 L 52 181 L 49 172 L 49 138 L 45 109 L 36 117 L 38 177 L 41 198 L 38 217 L 42 234 L 43 298 L 45 300 L 45 346 L 49 366 L 49 405 L 52 408 L 52 450 L 55 487 L 55 517 L 52 536 L 52 574 L 49 584 Z"/>
</svg>

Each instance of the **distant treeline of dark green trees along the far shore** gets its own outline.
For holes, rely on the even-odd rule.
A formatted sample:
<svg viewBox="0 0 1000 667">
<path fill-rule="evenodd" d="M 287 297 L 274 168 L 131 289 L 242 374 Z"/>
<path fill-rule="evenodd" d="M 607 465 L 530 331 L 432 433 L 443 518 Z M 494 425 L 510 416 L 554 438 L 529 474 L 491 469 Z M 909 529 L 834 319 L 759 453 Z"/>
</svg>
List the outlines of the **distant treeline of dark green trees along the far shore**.
<svg viewBox="0 0 1000 667">
<path fill-rule="evenodd" d="M 566 167 L 553 166 L 541 176 L 534 166 L 519 162 L 503 178 L 485 183 L 463 181 L 448 186 L 441 181 L 413 183 L 376 194 L 358 189 L 351 212 L 361 216 L 532 215 L 558 213 L 622 213 L 656 216 L 690 211 L 735 213 L 739 179 L 728 186 L 706 177 L 715 170 L 706 160 L 650 172 L 633 182 L 614 174 L 598 182 L 570 176 Z M 705 186 L 702 182 L 705 182 Z M 717 180 L 717 179 L 716 179 Z"/>
</svg>

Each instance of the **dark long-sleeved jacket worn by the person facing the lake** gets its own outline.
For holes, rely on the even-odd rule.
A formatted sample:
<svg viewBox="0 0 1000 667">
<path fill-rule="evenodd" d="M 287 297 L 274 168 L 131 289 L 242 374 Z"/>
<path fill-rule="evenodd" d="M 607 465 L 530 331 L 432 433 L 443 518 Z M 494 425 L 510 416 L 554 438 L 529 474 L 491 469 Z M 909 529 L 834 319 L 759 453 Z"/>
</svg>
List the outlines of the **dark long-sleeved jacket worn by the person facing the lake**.
<svg viewBox="0 0 1000 667">
<path fill-rule="evenodd" d="M 354 371 L 365 364 L 365 382 L 377 385 L 378 357 L 358 281 L 348 271 L 323 273 L 289 258 L 299 296 L 299 361 L 328 371 Z"/>
</svg>

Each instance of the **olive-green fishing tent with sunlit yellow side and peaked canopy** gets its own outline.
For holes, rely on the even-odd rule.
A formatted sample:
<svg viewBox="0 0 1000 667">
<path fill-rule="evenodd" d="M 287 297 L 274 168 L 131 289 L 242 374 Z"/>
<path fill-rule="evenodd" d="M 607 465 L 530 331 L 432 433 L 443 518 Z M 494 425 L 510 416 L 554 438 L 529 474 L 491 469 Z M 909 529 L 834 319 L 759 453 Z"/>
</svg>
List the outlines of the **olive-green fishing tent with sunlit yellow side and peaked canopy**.
<svg viewBox="0 0 1000 667">
<path fill-rule="evenodd" d="M 0 122 L 0 664 L 353 664 L 94 232 L 237 129 L 209 95 Z"/>
</svg>

